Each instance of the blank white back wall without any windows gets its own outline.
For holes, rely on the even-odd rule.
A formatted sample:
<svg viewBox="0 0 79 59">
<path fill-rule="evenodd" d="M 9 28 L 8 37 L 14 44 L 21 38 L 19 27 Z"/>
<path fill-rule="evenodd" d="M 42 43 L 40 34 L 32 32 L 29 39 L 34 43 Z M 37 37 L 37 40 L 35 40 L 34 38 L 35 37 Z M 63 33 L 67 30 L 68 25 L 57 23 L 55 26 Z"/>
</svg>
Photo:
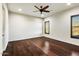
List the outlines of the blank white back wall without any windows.
<svg viewBox="0 0 79 59">
<path fill-rule="evenodd" d="M 39 37 L 42 35 L 42 19 L 9 13 L 9 41 Z"/>
</svg>

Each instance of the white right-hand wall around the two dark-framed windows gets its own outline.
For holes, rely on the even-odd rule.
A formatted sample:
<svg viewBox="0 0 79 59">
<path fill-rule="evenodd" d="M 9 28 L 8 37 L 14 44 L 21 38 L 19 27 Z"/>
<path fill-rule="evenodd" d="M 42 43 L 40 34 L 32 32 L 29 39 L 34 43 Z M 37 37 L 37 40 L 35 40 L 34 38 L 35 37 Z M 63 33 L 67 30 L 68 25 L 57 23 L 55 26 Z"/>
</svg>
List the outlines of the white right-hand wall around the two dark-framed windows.
<svg viewBox="0 0 79 59">
<path fill-rule="evenodd" d="M 45 21 L 50 21 L 50 34 L 44 36 L 79 45 L 79 39 L 70 38 L 70 16 L 76 14 L 79 14 L 79 7 L 47 17 Z"/>
</svg>

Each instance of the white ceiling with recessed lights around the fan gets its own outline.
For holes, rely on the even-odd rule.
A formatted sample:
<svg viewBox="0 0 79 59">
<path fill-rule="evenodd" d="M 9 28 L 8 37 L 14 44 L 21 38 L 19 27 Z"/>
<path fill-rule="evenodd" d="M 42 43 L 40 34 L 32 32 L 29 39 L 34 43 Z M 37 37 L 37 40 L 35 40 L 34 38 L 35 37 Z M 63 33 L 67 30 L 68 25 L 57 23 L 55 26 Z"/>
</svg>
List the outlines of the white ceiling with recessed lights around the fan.
<svg viewBox="0 0 79 59">
<path fill-rule="evenodd" d="M 79 6 L 78 3 L 72 3 L 71 5 L 67 5 L 66 3 L 8 3 L 8 9 L 11 12 L 17 12 L 21 14 L 26 14 L 30 16 L 36 16 L 36 17 L 42 17 L 40 12 L 33 12 L 37 9 L 34 7 L 36 6 L 46 6 L 49 5 L 49 8 L 47 10 L 50 10 L 49 13 L 43 13 L 43 17 L 48 17 L 52 14 L 55 14 L 57 12 L 61 12 L 70 8 L 74 8 Z M 22 11 L 18 11 L 18 9 L 22 9 Z"/>
</svg>

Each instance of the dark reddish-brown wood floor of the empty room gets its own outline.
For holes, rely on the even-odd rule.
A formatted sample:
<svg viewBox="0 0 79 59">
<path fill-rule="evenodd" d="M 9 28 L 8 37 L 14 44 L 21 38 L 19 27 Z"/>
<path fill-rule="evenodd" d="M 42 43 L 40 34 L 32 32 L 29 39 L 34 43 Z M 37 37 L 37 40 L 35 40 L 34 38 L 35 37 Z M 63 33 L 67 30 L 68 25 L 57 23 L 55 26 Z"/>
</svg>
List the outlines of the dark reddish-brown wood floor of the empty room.
<svg viewBox="0 0 79 59">
<path fill-rule="evenodd" d="M 79 46 L 38 37 L 9 42 L 3 56 L 79 56 Z"/>
</svg>

